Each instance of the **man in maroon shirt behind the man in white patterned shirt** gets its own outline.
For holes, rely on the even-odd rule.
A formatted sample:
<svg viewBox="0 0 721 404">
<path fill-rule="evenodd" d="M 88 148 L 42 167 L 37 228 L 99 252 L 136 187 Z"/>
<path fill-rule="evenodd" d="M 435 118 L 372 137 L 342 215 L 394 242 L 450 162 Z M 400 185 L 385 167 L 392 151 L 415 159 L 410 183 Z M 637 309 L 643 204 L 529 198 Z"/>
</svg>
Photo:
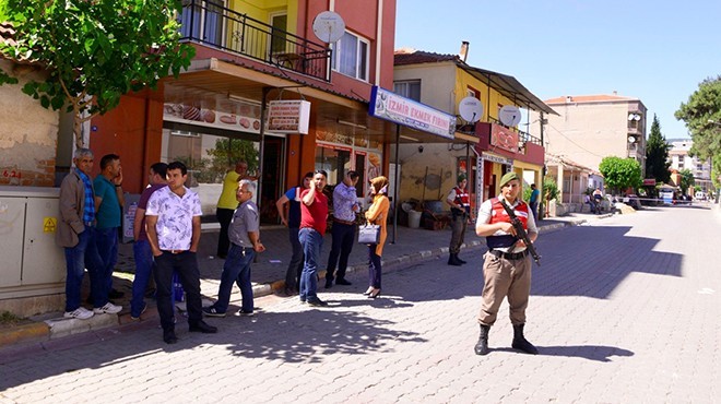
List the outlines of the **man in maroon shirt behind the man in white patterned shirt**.
<svg viewBox="0 0 721 404">
<path fill-rule="evenodd" d="M 165 163 L 155 163 L 150 168 L 147 179 L 150 186 L 143 190 L 135 209 L 133 219 L 132 236 L 135 240 L 132 245 L 132 252 L 135 258 L 135 277 L 132 281 L 132 300 L 130 300 L 130 318 L 140 320 L 140 314 L 145 311 L 145 288 L 153 273 L 153 252 L 147 241 L 147 231 L 145 231 L 145 209 L 147 200 L 156 190 L 167 187 L 165 176 L 168 165 Z"/>
</svg>

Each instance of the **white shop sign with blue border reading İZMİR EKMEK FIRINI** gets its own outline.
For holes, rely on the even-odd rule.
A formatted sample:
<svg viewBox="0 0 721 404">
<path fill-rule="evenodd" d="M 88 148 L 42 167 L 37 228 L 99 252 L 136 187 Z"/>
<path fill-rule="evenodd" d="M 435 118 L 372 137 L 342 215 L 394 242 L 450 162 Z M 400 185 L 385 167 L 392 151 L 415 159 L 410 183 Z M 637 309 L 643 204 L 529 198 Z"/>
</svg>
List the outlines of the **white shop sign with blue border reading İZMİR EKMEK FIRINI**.
<svg viewBox="0 0 721 404">
<path fill-rule="evenodd" d="M 447 139 L 456 136 L 456 117 L 425 104 L 402 97 L 375 85 L 370 92 L 371 117 L 389 120 L 404 127 L 437 134 Z"/>
</svg>

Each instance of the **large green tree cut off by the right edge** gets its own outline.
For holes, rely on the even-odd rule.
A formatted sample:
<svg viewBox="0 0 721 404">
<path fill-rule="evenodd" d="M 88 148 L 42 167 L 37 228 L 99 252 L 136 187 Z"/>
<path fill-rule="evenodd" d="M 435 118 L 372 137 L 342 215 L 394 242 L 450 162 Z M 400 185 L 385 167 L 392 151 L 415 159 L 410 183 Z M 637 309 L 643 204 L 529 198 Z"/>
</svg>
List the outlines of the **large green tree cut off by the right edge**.
<svg viewBox="0 0 721 404">
<path fill-rule="evenodd" d="M 689 154 L 701 161 L 711 158 L 711 178 L 721 188 L 721 76 L 702 81 L 675 117 L 686 122 L 690 132 L 694 145 Z"/>
</svg>

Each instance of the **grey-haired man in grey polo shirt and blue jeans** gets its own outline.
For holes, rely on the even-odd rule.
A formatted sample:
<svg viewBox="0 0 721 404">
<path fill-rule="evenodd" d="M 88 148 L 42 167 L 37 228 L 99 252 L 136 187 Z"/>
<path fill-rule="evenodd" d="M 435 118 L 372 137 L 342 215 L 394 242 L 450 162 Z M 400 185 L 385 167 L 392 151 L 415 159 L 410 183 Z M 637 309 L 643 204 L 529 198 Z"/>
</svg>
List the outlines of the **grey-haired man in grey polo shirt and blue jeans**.
<svg viewBox="0 0 721 404">
<path fill-rule="evenodd" d="M 257 252 L 263 252 L 265 247 L 260 242 L 260 217 L 258 206 L 252 201 L 256 183 L 249 179 L 238 182 L 236 198 L 240 204 L 233 214 L 228 237 L 231 249 L 223 265 L 221 286 L 217 290 L 217 301 L 203 308 L 209 317 L 225 317 L 231 302 L 233 283 L 237 283 L 243 296 L 243 306 L 237 316 L 253 316 L 252 285 L 250 284 L 250 263 Z"/>
</svg>

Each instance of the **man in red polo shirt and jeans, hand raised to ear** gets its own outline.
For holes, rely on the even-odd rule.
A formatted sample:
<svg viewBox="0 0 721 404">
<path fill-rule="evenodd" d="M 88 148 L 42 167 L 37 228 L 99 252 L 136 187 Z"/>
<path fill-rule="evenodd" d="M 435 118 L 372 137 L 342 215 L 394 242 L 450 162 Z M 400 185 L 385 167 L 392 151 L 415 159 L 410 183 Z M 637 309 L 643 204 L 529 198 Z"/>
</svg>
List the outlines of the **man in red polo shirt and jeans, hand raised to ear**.
<svg viewBox="0 0 721 404">
<path fill-rule="evenodd" d="M 298 239 L 303 246 L 304 264 L 300 274 L 300 302 L 310 306 L 328 306 L 318 298 L 318 260 L 320 249 L 323 246 L 326 234 L 326 221 L 328 219 L 328 198 L 323 194 L 323 188 L 328 182 L 328 174 L 324 170 L 316 170 L 309 189 L 300 193 L 300 230 Z"/>
</svg>

